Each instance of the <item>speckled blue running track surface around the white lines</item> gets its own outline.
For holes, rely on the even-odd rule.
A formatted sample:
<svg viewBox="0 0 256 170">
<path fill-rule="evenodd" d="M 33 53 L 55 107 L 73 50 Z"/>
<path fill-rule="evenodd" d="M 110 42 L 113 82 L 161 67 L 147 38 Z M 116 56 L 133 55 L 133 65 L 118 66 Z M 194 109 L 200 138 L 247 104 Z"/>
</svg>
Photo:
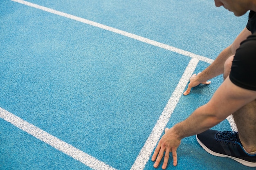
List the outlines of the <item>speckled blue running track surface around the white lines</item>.
<svg viewBox="0 0 256 170">
<path fill-rule="evenodd" d="M 29 2 L 211 59 L 247 20 L 207 0 Z M 0 1 L 0 107 L 118 170 L 133 165 L 190 59 Z M 195 73 L 208 65 L 199 62 Z M 216 77 L 182 96 L 167 127 L 209 101 L 221 82 Z M 230 130 L 227 121 L 215 128 Z M 183 139 L 178 162 L 168 169 L 246 169 L 209 155 L 195 137 Z M 0 169 L 90 168 L 0 119 Z M 150 169 L 148 161 L 145 170 Z"/>
</svg>

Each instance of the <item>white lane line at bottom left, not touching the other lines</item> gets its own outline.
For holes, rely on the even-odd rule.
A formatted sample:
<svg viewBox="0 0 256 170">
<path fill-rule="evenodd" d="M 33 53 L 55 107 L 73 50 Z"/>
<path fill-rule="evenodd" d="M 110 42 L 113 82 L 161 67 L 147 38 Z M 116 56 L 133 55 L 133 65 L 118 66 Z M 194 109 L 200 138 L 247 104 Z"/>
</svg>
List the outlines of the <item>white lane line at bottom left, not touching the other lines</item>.
<svg viewBox="0 0 256 170">
<path fill-rule="evenodd" d="M 49 144 L 50 146 L 56 148 L 57 150 L 69 155 L 70 157 L 80 161 L 86 166 L 94 170 L 116 170 L 106 163 L 99 161 L 98 159 L 86 154 L 85 152 L 75 148 L 74 146 L 65 143 L 64 141 L 52 136 L 51 134 L 41 130 L 40 128 L 29 124 L 27 121 L 9 113 L 7 110 L 0 108 L 0 118 L 5 121 L 10 122 L 14 126 L 24 130 L 30 135 L 36 137 L 37 139 Z"/>
</svg>

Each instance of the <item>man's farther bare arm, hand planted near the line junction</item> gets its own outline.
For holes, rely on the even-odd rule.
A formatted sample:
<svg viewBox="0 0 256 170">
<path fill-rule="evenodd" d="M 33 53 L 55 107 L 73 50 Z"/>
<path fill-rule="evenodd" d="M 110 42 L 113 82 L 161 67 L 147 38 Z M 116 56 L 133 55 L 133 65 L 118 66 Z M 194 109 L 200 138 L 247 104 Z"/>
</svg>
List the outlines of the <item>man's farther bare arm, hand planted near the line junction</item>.
<svg viewBox="0 0 256 170">
<path fill-rule="evenodd" d="M 210 66 L 202 71 L 202 73 L 198 75 L 194 74 L 191 77 L 189 86 L 183 94 L 188 95 L 191 91 L 191 88 L 198 86 L 199 84 L 210 84 L 211 82 L 207 82 L 207 80 L 223 74 L 225 61 L 231 55 L 234 55 L 236 53 L 236 49 L 238 49 L 240 43 L 245 40 L 249 35 L 252 35 L 252 33 L 245 27 L 245 29 L 243 29 L 243 31 L 238 35 L 234 42 L 226 49 L 224 49 Z"/>
</svg>

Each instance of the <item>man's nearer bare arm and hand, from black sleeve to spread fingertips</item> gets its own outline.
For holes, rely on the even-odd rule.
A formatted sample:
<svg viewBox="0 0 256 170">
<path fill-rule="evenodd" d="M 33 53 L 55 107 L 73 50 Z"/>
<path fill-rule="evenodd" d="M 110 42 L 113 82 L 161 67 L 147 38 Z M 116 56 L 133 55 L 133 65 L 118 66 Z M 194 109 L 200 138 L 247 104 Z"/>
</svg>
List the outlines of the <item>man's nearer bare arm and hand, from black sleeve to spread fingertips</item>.
<svg viewBox="0 0 256 170">
<path fill-rule="evenodd" d="M 177 165 L 176 149 L 182 138 L 199 134 L 217 125 L 254 99 L 256 99 L 256 91 L 236 86 L 227 77 L 207 104 L 196 109 L 186 120 L 166 131 L 153 154 L 152 161 L 156 160 L 154 167 L 159 165 L 164 156 L 162 168 L 165 169 L 169 152 L 173 153 L 173 165 Z"/>
</svg>

